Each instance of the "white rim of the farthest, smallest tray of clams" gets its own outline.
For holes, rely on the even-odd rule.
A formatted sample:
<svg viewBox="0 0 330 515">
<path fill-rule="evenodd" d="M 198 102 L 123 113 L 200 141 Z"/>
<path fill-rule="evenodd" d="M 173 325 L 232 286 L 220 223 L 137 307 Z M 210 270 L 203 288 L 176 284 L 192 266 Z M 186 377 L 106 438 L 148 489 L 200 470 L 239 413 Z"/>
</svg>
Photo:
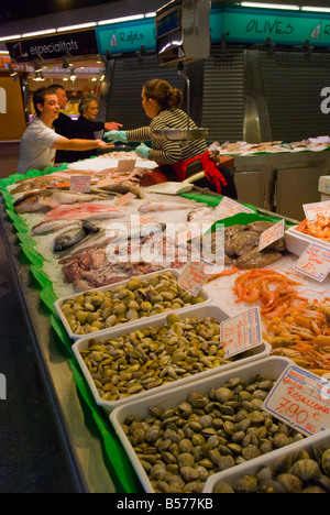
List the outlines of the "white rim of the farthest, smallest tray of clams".
<svg viewBox="0 0 330 515">
<path fill-rule="evenodd" d="M 178 281 L 179 276 L 180 276 L 180 273 L 175 270 L 175 269 L 165 269 L 165 270 L 161 270 L 158 272 L 153 272 L 151 274 L 146 274 L 146 275 L 143 275 L 143 276 L 139 276 L 139 277 L 134 277 L 132 276 L 130 280 L 128 281 L 121 281 L 119 283 L 114 283 L 112 285 L 108 285 L 108 286 L 101 286 L 100 288 L 95 288 L 95 289 L 90 289 L 90 291 L 87 291 L 87 292 L 82 292 L 82 293 L 79 293 L 79 294 L 75 294 L 75 295 L 69 295 L 67 297 L 63 297 L 63 298 L 59 298 L 57 299 L 55 303 L 54 303 L 54 307 L 57 311 L 57 315 L 58 317 L 61 318 L 68 336 L 73 339 L 73 340 L 78 340 L 80 338 L 84 338 L 86 336 L 95 336 L 96 332 L 89 332 L 88 335 L 87 333 L 82 333 L 82 335 L 77 335 L 76 332 L 74 332 L 73 328 L 70 327 L 67 318 L 65 317 L 63 310 L 62 310 L 62 306 L 64 306 L 68 300 L 77 300 L 79 297 L 84 296 L 89 296 L 90 293 L 92 294 L 98 294 L 100 292 L 110 292 L 111 294 L 116 294 L 119 289 L 122 289 L 124 288 L 129 283 L 130 281 L 132 280 L 138 280 L 140 281 L 141 283 L 143 283 L 143 287 L 145 288 L 146 287 L 146 284 L 150 284 L 150 281 L 155 278 L 155 277 L 162 277 L 166 274 L 170 274 L 175 280 L 176 282 Z M 141 285 L 142 286 L 142 285 Z M 191 297 L 191 295 L 190 295 Z M 200 303 L 200 304 L 209 304 L 211 302 L 211 295 L 209 293 L 206 293 L 202 288 L 199 291 L 198 295 L 196 297 L 204 297 L 205 298 L 205 302 Z M 195 297 L 195 298 L 196 298 Z M 183 308 L 178 308 L 178 309 L 175 309 L 176 311 L 182 311 L 182 309 L 184 309 L 185 307 L 188 307 L 190 304 L 194 304 L 194 297 L 193 299 L 186 304 L 183 304 Z M 169 311 L 166 311 L 166 313 L 169 313 Z M 107 333 L 108 337 L 110 337 L 111 332 L 112 331 L 117 331 L 117 329 L 120 327 L 121 329 L 134 329 L 136 327 L 136 322 L 139 322 L 139 320 L 145 320 L 147 318 L 147 320 L 151 320 L 151 319 L 160 319 L 160 317 L 162 318 L 162 314 L 160 315 L 151 315 L 151 316 L 147 316 L 147 317 L 143 317 L 143 318 L 139 318 L 138 320 L 134 319 L 134 320 L 129 320 L 129 321 L 124 321 L 124 322 L 121 322 L 121 324 L 118 324 L 116 326 L 113 326 L 112 328 L 107 328 L 107 329 L 100 329 L 97 331 L 97 335 L 105 335 Z M 106 322 L 106 320 L 103 320 Z"/>
</svg>

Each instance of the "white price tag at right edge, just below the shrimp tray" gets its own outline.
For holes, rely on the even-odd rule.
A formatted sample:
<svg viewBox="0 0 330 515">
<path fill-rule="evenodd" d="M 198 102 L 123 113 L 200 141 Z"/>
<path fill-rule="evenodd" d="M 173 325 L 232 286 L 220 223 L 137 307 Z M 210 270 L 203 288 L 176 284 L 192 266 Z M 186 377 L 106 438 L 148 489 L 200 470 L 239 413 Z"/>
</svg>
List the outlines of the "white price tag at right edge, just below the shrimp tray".
<svg viewBox="0 0 330 515">
<path fill-rule="evenodd" d="M 294 267 L 321 283 L 330 272 L 330 251 L 310 243 Z"/>
</svg>

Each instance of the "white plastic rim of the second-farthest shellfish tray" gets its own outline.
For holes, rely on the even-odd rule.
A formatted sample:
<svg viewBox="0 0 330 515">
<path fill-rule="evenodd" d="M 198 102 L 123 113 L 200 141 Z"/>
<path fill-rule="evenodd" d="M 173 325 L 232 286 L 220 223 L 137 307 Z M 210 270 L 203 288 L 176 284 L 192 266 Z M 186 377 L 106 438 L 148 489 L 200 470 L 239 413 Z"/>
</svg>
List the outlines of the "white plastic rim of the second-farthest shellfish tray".
<svg viewBox="0 0 330 515">
<path fill-rule="evenodd" d="M 177 311 L 178 313 L 178 311 Z M 163 326 L 165 322 L 166 322 L 166 317 L 167 317 L 168 314 L 164 314 L 162 315 L 161 317 L 150 317 L 148 319 L 142 319 L 140 322 L 136 321 L 135 322 L 135 327 L 133 330 L 138 330 L 138 329 L 142 329 L 144 327 L 150 327 L 150 326 L 153 326 L 153 327 L 158 327 L 158 326 Z M 183 316 L 183 317 L 197 317 L 197 318 L 206 318 L 206 317 L 213 317 L 216 321 L 218 321 L 219 324 L 222 321 L 222 320 L 226 320 L 228 319 L 228 316 L 218 307 L 218 306 L 212 306 L 212 305 L 205 305 L 205 306 L 190 306 L 190 307 L 187 307 L 187 308 L 184 308 L 180 310 L 180 313 L 178 313 L 178 315 Z M 89 336 L 89 337 L 85 337 L 85 338 L 81 338 L 79 340 L 77 340 L 74 344 L 73 344 L 73 351 L 75 353 L 75 357 L 77 358 L 77 361 L 79 363 L 79 366 L 86 377 L 86 381 L 87 383 L 89 384 L 89 387 L 92 392 L 92 395 L 95 397 L 95 401 L 97 403 L 98 406 L 102 406 L 107 413 L 110 413 L 111 409 L 113 409 L 114 407 L 117 406 L 121 406 L 123 404 L 131 404 L 132 402 L 136 401 L 136 399 L 145 399 L 145 398 L 150 398 L 151 395 L 153 394 L 156 394 L 156 393 L 162 393 L 162 392 L 167 392 L 169 390 L 175 390 L 175 392 L 177 392 L 177 388 L 184 384 L 191 384 L 193 382 L 196 382 L 197 380 L 199 379 L 202 379 L 202 377 L 209 377 L 209 376 L 220 376 L 222 375 L 224 372 L 227 372 L 228 370 L 232 370 L 232 369 L 237 369 L 238 366 L 240 366 L 241 364 L 243 363 L 250 363 L 250 362 L 254 362 L 256 360 L 261 360 L 262 358 L 267 358 L 271 353 L 271 350 L 272 350 L 272 347 L 270 346 L 270 343 L 265 342 L 265 341 L 262 341 L 261 344 L 258 344 L 257 347 L 253 348 L 253 350 L 251 350 L 251 355 L 249 355 L 248 358 L 241 358 L 239 357 L 239 354 L 235 357 L 235 361 L 233 362 L 230 362 L 228 364 L 224 364 L 224 365 L 221 365 L 221 366 L 218 366 L 218 368 L 215 368 L 215 369 L 209 369 L 205 372 L 200 372 L 200 373 L 197 373 L 197 374 L 194 374 L 194 375 L 189 375 L 187 377 L 184 377 L 184 379 L 180 379 L 180 380 L 177 380 L 177 381 L 174 381 L 172 383 L 167 383 L 165 385 L 162 385 L 162 386 L 157 386 L 153 390 L 148 390 L 148 391 L 143 391 L 141 393 L 138 393 L 138 394 L 134 394 L 130 397 L 125 397 L 123 399 L 120 399 L 120 401 L 113 401 L 113 402 L 110 402 L 110 401 L 105 401 L 100 397 L 99 393 L 98 393 L 98 390 L 92 381 L 92 377 L 88 371 L 88 368 L 86 366 L 86 363 L 84 361 L 84 359 L 81 358 L 81 354 L 80 354 L 80 350 L 81 349 L 86 349 L 88 348 L 88 342 L 89 340 L 92 338 L 96 342 L 99 342 L 101 340 L 105 340 L 108 338 L 108 336 L 113 339 L 113 338 L 117 338 L 117 337 L 120 337 L 122 335 L 127 335 L 127 333 L 130 333 L 132 332 L 132 328 L 128 328 L 128 327 L 123 327 L 123 326 L 119 326 L 116 330 L 111 330 L 111 331 L 105 331 L 102 332 L 102 335 L 100 332 L 97 332 L 97 333 L 94 333 L 92 336 Z M 264 360 L 263 360 L 264 361 Z M 191 386 L 190 386 L 191 387 Z M 175 394 L 176 395 L 176 394 Z M 147 401 L 148 403 L 148 401 Z"/>
</svg>

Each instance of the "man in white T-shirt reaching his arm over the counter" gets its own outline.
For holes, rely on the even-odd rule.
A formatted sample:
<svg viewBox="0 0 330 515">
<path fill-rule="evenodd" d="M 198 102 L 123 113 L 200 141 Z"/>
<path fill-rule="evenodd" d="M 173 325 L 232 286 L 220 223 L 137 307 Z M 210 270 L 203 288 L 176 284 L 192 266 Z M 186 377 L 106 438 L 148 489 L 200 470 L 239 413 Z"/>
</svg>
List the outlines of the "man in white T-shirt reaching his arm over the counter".
<svg viewBox="0 0 330 515">
<path fill-rule="evenodd" d="M 82 151 L 113 146 L 102 140 L 69 140 L 57 134 L 53 122 L 58 118 L 59 105 L 57 95 L 52 89 L 37 89 L 33 95 L 33 103 L 36 117 L 22 136 L 16 173 L 24 174 L 29 169 L 43 171 L 46 166 L 53 166 L 56 150 Z"/>
</svg>

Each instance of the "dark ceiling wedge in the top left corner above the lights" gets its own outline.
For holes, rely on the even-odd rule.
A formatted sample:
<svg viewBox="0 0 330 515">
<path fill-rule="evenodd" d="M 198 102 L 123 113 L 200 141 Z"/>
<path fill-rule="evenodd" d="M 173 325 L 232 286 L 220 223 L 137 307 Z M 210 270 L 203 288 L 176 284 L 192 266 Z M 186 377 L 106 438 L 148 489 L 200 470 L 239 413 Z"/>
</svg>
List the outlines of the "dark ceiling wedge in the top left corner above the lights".
<svg viewBox="0 0 330 515">
<path fill-rule="evenodd" d="M 0 23 L 110 3 L 114 0 L 1 0 Z"/>
</svg>

